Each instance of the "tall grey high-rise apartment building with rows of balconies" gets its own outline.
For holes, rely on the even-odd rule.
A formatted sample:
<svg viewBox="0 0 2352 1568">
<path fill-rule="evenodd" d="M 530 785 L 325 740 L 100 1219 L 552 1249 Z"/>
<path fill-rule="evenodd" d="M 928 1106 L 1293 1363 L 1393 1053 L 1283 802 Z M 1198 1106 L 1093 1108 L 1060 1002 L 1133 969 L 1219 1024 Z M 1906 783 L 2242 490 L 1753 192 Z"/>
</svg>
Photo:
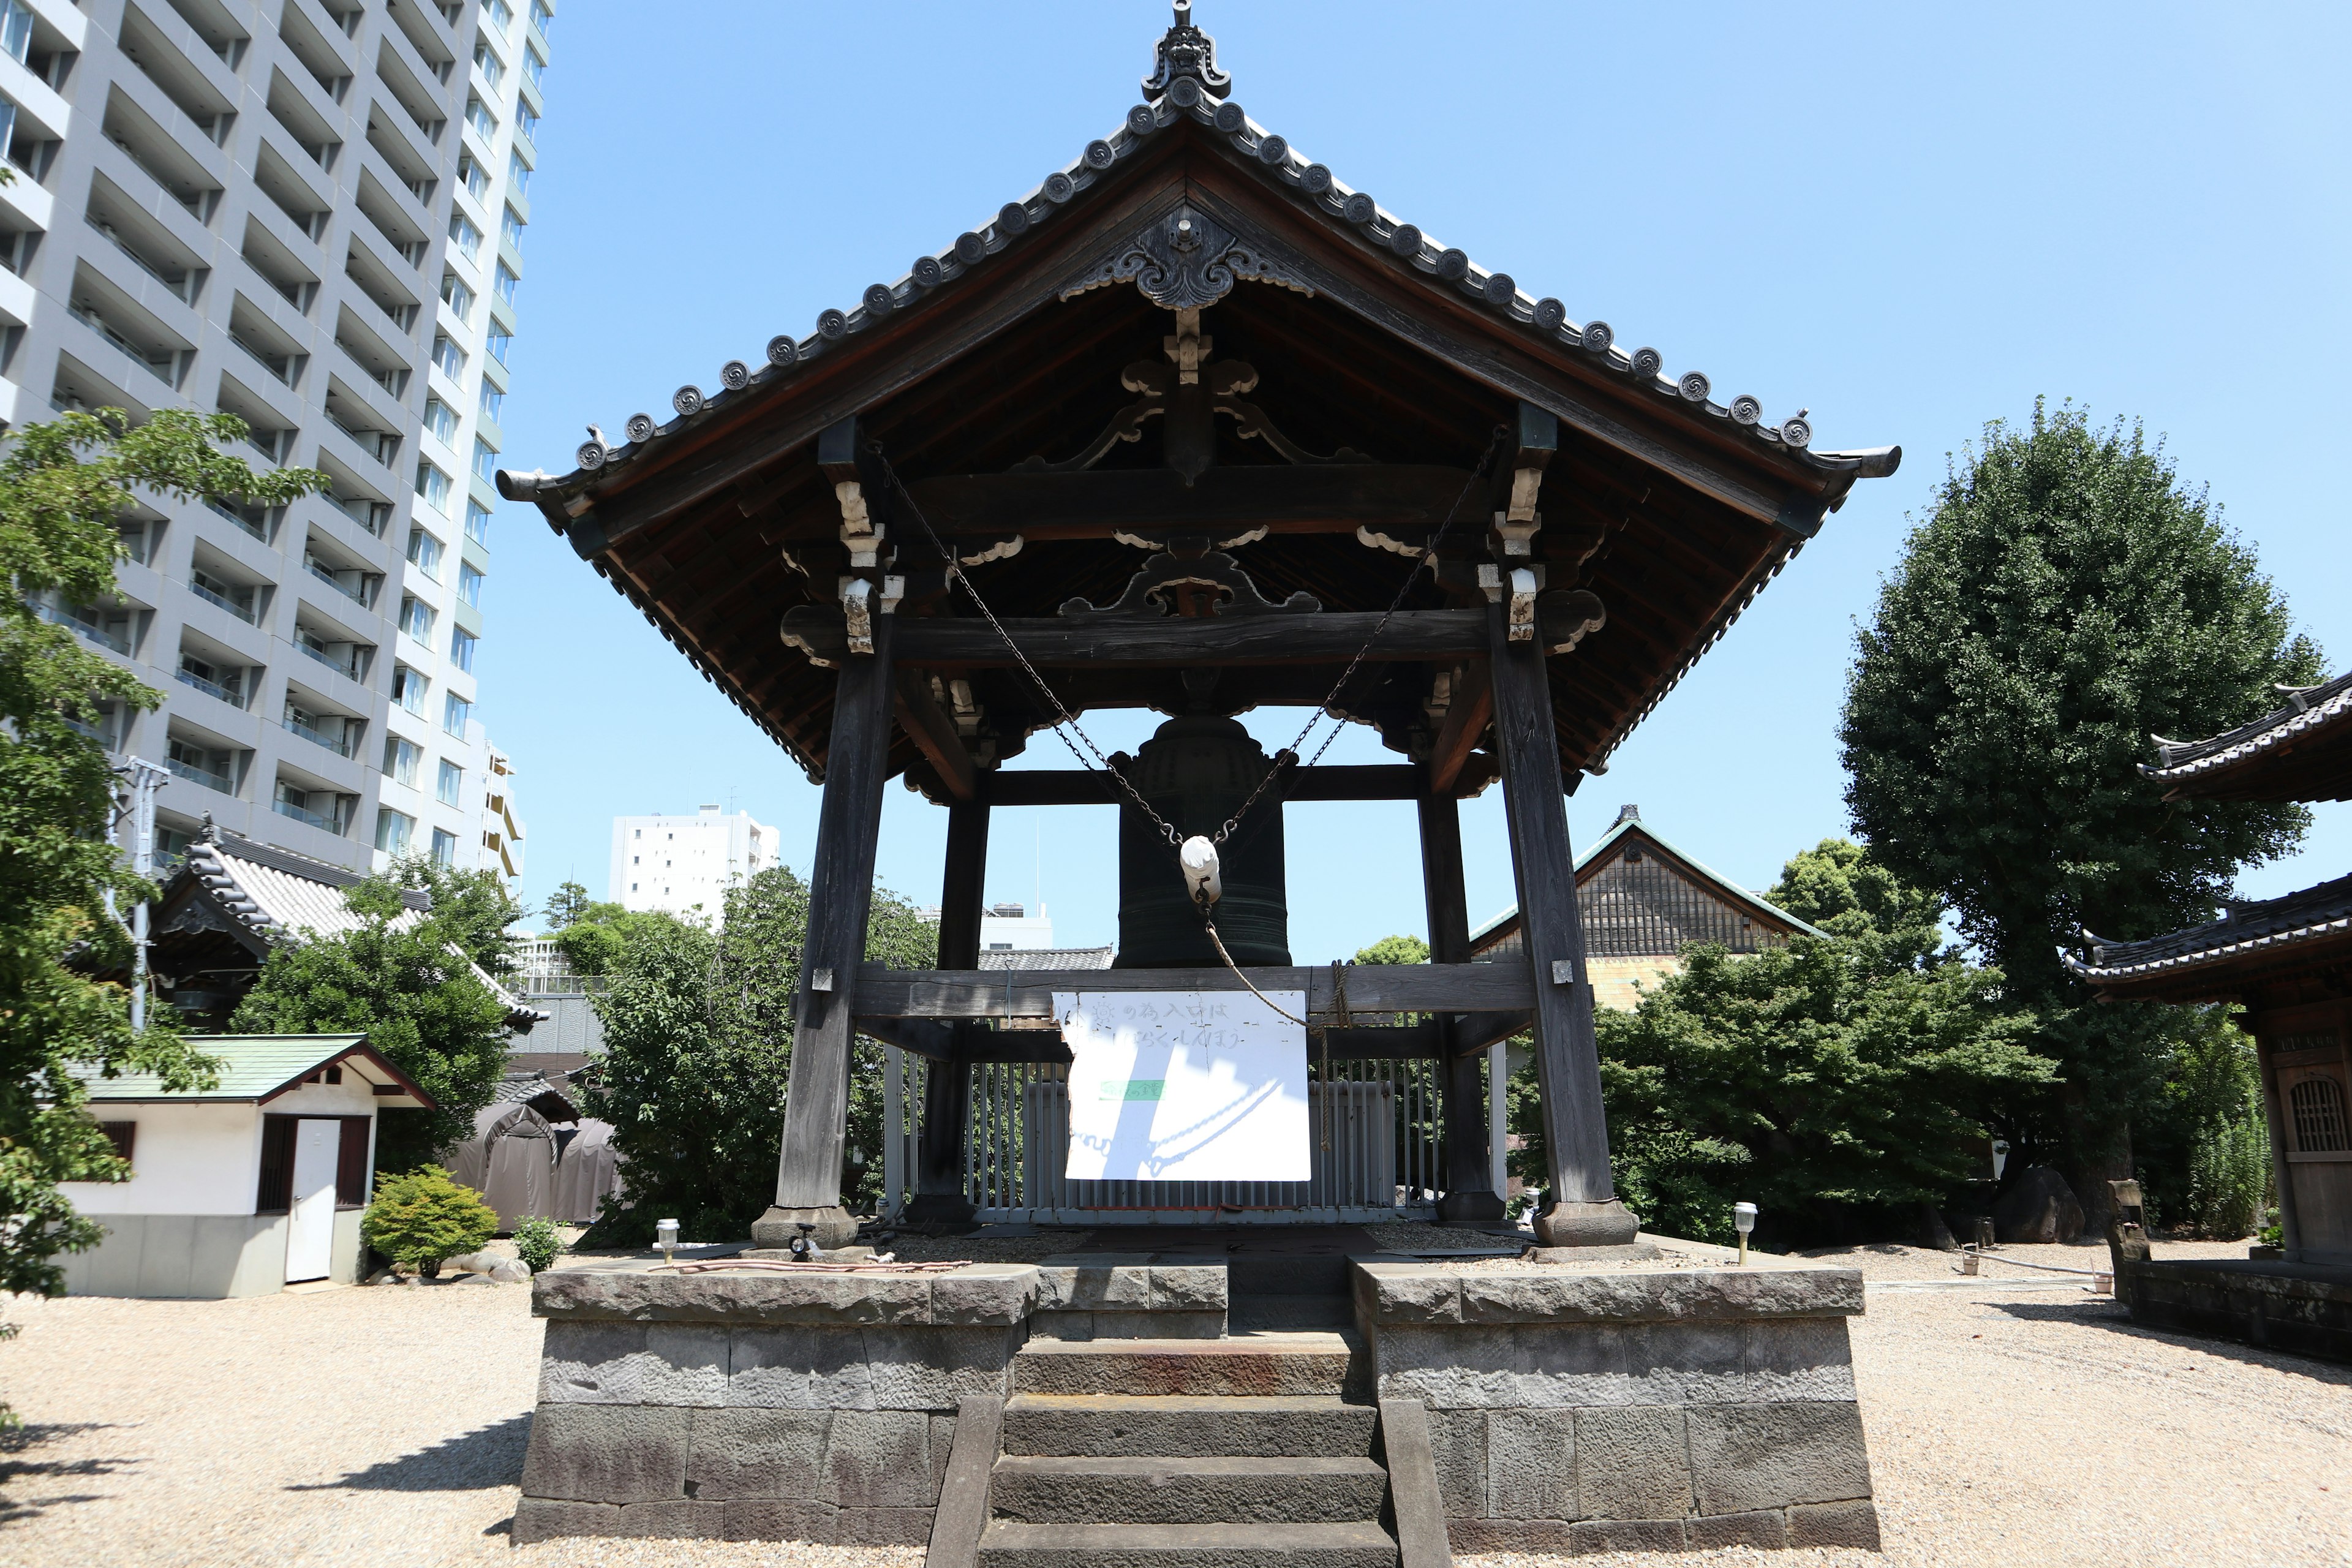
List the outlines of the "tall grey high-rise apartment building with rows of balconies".
<svg viewBox="0 0 2352 1568">
<path fill-rule="evenodd" d="M 287 508 L 148 496 L 45 604 L 165 693 L 103 741 L 348 867 L 522 870 L 475 717 L 550 0 L 0 0 L 0 421 L 226 409 Z"/>
</svg>

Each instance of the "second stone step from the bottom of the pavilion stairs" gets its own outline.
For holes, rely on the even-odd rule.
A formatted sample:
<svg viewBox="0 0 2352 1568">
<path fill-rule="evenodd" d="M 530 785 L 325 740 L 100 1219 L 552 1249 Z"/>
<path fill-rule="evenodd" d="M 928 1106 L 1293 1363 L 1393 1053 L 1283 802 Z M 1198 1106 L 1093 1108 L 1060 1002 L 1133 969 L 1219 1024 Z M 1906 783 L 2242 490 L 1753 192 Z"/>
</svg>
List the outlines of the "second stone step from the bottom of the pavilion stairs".
<svg viewBox="0 0 2352 1568">
<path fill-rule="evenodd" d="M 1021 1523 L 1338 1523 L 1378 1519 L 1374 1460 L 1082 1458 L 997 1460 L 988 1505 Z"/>
</svg>

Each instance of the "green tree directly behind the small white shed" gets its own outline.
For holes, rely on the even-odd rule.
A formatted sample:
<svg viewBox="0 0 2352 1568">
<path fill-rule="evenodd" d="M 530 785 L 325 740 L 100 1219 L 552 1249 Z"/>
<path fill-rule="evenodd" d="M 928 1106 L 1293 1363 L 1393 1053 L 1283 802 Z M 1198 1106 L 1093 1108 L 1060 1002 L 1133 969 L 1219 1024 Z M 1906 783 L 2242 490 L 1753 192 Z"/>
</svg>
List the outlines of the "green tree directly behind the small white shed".
<svg viewBox="0 0 2352 1568">
<path fill-rule="evenodd" d="M 343 889 L 360 926 L 270 952 L 230 1018 L 247 1034 L 365 1032 L 433 1095 L 435 1110 L 383 1112 L 379 1171 L 421 1166 L 470 1138 L 506 1079 L 506 1004 L 468 964 L 480 910 L 461 900 L 414 917 L 400 891 L 393 877 Z"/>
</svg>

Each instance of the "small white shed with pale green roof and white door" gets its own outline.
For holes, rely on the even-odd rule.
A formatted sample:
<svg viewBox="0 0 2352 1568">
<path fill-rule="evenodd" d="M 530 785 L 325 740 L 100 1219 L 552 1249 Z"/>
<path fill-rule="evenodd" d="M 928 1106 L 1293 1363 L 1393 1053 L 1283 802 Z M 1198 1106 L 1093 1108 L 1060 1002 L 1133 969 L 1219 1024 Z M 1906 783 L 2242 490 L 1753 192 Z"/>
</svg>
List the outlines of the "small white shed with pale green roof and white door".
<svg viewBox="0 0 2352 1568">
<path fill-rule="evenodd" d="M 433 1098 L 362 1034 L 202 1034 L 221 1081 L 89 1079 L 125 1182 L 66 1182 L 106 1241 L 68 1253 L 73 1295 L 268 1295 L 358 1281 L 376 1112 Z"/>
</svg>

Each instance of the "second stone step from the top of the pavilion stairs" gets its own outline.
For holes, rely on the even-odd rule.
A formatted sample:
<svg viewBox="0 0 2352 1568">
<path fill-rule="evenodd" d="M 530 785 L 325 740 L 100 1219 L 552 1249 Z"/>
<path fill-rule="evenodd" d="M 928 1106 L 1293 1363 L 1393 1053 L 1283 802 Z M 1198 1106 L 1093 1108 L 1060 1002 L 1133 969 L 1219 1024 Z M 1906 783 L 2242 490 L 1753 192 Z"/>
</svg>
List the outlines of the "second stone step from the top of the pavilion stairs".
<svg viewBox="0 0 2352 1568">
<path fill-rule="evenodd" d="M 1381 1413 L 1336 1394 L 1014 1394 L 1004 1453 L 1359 1460 Z"/>
</svg>

